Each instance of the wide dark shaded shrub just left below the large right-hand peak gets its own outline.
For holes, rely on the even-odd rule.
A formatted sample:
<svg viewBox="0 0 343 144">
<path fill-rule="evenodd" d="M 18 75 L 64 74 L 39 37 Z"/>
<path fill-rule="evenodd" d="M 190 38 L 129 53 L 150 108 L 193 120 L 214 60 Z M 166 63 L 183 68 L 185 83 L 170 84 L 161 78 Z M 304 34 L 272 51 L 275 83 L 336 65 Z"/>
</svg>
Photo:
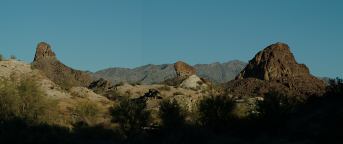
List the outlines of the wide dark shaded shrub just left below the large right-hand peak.
<svg viewBox="0 0 343 144">
<path fill-rule="evenodd" d="M 220 130 L 233 119 L 235 102 L 226 96 L 210 96 L 199 102 L 199 123 L 207 128 Z"/>
</svg>

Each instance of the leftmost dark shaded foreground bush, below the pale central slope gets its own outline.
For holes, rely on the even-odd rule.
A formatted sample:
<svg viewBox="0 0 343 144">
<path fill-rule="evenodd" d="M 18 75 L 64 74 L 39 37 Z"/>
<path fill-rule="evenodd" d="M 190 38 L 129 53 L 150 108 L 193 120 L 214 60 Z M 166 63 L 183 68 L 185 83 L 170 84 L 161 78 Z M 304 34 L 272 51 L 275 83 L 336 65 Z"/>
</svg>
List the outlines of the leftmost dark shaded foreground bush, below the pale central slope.
<svg viewBox="0 0 343 144">
<path fill-rule="evenodd" d="M 136 134 L 150 121 L 150 112 L 145 101 L 123 99 L 111 109 L 112 121 L 119 124 L 128 135 Z"/>
</svg>

